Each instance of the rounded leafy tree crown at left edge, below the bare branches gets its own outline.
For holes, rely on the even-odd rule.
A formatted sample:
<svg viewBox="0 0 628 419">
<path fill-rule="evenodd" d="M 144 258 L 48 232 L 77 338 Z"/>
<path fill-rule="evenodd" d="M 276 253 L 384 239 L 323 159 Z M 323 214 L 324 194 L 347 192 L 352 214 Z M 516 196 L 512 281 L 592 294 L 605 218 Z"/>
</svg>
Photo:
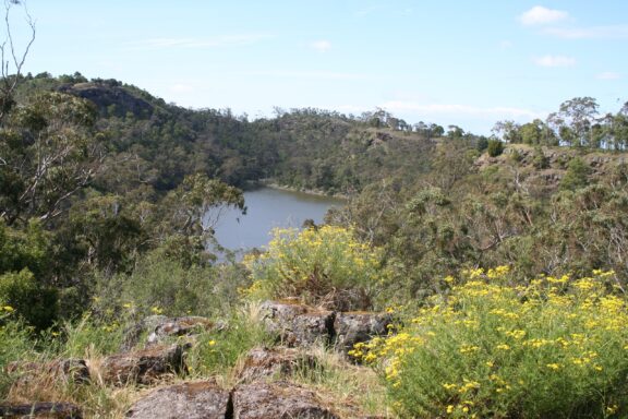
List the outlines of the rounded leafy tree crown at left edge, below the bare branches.
<svg viewBox="0 0 628 419">
<path fill-rule="evenodd" d="M 16 108 L 0 129 L 0 218 L 50 220 L 89 184 L 105 156 L 85 99 L 45 93 Z"/>
</svg>

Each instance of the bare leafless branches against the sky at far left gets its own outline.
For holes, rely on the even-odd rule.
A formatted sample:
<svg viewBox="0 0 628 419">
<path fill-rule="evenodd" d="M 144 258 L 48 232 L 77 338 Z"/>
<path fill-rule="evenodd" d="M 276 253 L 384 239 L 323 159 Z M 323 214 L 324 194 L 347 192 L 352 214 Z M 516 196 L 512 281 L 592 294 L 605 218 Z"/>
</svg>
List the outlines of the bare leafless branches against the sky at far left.
<svg viewBox="0 0 628 419">
<path fill-rule="evenodd" d="M 20 52 L 15 45 L 13 38 L 13 32 L 11 31 L 10 12 L 13 5 L 21 4 L 19 0 L 4 0 L 4 25 L 5 25 L 5 38 L 0 44 L 0 59 L 1 62 L 1 81 L 0 81 L 0 124 L 4 120 L 7 113 L 11 110 L 15 101 L 13 99 L 13 92 L 17 86 L 17 83 L 22 76 L 22 68 L 26 61 L 26 56 L 31 46 L 35 41 L 35 22 L 28 14 L 28 11 L 24 7 L 24 14 L 26 15 L 26 24 L 31 28 L 31 37 L 26 41 L 26 46 L 23 51 Z"/>
</svg>

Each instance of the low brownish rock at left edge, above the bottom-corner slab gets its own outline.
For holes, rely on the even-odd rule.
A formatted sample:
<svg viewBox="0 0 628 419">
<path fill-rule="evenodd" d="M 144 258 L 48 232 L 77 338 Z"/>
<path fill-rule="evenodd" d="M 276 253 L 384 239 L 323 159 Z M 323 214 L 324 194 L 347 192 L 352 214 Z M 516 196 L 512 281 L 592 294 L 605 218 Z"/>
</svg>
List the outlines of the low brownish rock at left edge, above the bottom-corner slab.
<svg viewBox="0 0 628 419">
<path fill-rule="evenodd" d="M 32 385 L 34 382 L 89 382 L 89 369 L 82 359 L 56 359 L 50 362 L 11 362 L 5 371 L 19 375 L 14 385 Z"/>
</svg>

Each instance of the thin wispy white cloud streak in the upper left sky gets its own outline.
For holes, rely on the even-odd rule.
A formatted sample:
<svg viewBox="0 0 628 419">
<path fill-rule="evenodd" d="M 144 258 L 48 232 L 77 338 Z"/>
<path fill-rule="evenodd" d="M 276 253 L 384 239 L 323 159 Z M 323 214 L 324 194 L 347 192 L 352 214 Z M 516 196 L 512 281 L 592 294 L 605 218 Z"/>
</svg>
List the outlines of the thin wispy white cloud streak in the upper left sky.
<svg viewBox="0 0 628 419">
<path fill-rule="evenodd" d="M 235 34 L 221 35 L 209 38 L 150 38 L 129 43 L 132 48 L 160 49 L 160 48 L 218 48 L 252 45 L 271 38 L 268 34 Z"/>
</svg>

